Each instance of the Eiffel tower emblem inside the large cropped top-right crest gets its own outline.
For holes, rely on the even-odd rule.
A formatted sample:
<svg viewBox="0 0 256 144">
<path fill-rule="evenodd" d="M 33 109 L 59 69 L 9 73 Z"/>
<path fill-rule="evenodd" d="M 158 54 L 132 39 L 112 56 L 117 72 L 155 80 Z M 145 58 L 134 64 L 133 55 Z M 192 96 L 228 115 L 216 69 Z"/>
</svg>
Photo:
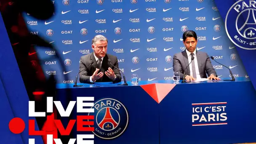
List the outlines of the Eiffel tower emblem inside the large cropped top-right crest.
<svg viewBox="0 0 256 144">
<path fill-rule="evenodd" d="M 237 19 L 238 18 L 239 17 L 237 17 Z M 236 25 L 237 25 L 237 21 L 236 21 Z M 256 18 L 254 15 L 254 9 L 248 9 L 248 15 L 245 20 L 245 23 L 237 31 L 244 38 L 247 38 L 247 39 L 255 39 L 256 38 Z"/>
</svg>

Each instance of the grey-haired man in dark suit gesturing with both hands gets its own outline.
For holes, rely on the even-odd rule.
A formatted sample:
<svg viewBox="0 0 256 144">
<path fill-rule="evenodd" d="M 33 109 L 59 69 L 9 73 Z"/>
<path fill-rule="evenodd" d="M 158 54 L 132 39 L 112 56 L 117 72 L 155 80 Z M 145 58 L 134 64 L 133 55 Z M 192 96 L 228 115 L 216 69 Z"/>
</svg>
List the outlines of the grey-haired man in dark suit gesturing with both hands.
<svg viewBox="0 0 256 144">
<path fill-rule="evenodd" d="M 93 37 L 91 45 L 93 53 L 81 56 L 80 58 L 80 83 L 118 83 L 121 81 L 117 57 L 107 54 L 107 44 L 108 40 L 103 35 Z M 109 64 L 108 59 L 117 68 Z M 92 61 L 93 64 L 91 64 Z M 90 64 L 91 66 L 89 67 Z"/>
</svg>

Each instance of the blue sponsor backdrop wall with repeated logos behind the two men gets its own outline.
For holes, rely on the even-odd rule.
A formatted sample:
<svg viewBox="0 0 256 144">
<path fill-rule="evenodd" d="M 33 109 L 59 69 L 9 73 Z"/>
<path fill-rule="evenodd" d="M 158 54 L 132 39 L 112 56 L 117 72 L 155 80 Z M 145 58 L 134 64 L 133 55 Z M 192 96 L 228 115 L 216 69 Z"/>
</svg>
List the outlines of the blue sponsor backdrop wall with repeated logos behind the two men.
<svg viewBox="0 0 256 144">
<path fill-rule="evenodd" d="M 185 50 L 182 34 L 186 30 L 197 33 L 197 51 L 214 56 L 235 77 L 248 77 L 213 0 L 52 2 L 56 12 L 51 19 L 36 21 L 29 13 L 24 16 L 33 35 L 44 36 L 56 47 L 56 51 L 38 49 L 36 53 L 44 59 L 41 65 L 45 75 L 56 75 L 58 83 L 74 83 L 80 57 L 93 52 L 91 40 L 95 35 L 108 38 L 107 53 L 117 56 L 127 80 L 133 73 L 139 75 L 139 80 L 170 80 L 173 55 Z M 63 61 L 56 59 L 56 53 Z M 211 61 L 220 78 L 230 78 L 228 69 Z"/>
</svg>

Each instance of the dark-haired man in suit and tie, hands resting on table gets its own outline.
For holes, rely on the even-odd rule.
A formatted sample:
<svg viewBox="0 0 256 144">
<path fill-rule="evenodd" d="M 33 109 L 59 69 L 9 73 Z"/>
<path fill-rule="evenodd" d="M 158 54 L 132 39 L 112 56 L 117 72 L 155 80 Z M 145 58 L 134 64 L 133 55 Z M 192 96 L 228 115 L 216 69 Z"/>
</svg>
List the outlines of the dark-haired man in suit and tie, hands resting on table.
<svg viewBox="0 0 256 144">
<path fill-rule="evenodd" d="M 188 30 L 183 33 L 183 43 L 186 50 L 176 53 L 173 56 L 173 71 L 179 71 L 181 79 L 183 79 L 183 74 L 185 72 L 185 80 L 187 81 L 200 78 L 220 80 L 213 69 L 208 54 L 201 51 L 196 51 L 197 34 L 194 31 Z M 194 60 L 191 62 L 192 57 L 194 57 Z M 190 62 L 191 64 L 189 65 Z M 188 65 L 189 67 L 187 67 Z M 186 67 L 187 69 L 185 71 Z M 206 73 L 208 77 L 206 76 Z"/>
</svg>

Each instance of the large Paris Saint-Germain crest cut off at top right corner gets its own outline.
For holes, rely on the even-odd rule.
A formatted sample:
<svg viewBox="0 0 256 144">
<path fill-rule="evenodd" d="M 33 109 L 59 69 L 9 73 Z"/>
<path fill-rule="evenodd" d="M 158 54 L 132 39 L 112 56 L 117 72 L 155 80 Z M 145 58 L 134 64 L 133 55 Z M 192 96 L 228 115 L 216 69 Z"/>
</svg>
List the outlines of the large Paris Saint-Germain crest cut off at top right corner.
<svg viewBox="0 0 256 144">
<path fill-rule="evenodd" d="M 251 3 L 253 2 L 253 3 Z M 229 39 L 240 48 L 256 49 L 256 1 L 239 0 L 229 8 L 225 28 Z"/>
</svg>

